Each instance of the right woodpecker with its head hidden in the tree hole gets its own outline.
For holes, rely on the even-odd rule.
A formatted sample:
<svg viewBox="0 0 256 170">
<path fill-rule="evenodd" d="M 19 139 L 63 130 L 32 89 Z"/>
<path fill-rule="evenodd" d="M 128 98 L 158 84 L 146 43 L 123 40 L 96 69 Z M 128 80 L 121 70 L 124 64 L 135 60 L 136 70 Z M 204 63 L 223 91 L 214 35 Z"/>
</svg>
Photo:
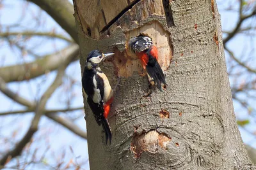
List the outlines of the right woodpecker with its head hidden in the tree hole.
<svg viewBox="0 0 256 170">
<path fill-rule="evenodd" d="M 157 62 L 157 48 L 153 45 L 152 39 L 140 34 L 139 36 L 132 38 L 128 45 L 131 51 L 136 53 L 140 59 L 143 69 L 146 69 L 150 83 L 156 85 L 157 89 L 162 91 L 161 83 L 164 85 L 167 84 L 163 70 Z"/>
</svg>

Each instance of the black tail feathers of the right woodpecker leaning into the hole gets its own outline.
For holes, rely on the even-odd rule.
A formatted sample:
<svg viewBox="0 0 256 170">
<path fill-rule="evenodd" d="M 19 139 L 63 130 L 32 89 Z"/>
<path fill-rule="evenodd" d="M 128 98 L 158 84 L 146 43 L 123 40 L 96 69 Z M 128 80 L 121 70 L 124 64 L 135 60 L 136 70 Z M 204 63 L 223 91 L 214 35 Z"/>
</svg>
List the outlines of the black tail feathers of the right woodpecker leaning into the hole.
<svg viewBox="0 0 256 170">
<path fill-rule="evenodd" d="M 150 83 L 154 81 L 154 85 L 156 85 L 157 89 L 162 91 L 161 83 L 164 85 L 167 85 L 167 83 L 159 63 L 156 61 L 154 66 L 147 65 L 146 69 Z"/>
</svg>

